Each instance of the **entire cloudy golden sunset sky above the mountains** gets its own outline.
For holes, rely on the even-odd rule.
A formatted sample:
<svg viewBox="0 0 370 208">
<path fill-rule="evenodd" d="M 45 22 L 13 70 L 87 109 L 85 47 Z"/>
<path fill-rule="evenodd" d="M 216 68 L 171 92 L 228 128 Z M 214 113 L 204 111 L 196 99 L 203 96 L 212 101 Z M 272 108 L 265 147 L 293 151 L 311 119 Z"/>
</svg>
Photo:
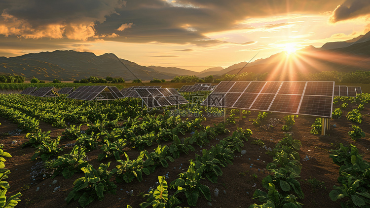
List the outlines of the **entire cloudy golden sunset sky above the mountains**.
<svg viewBox="0 0 370 208">
<path fill-rule="evenodd" d="M 1 0 L 0 14 L 0 56 L 114 53 L 197 72 L 370 31 L 370 0 Z"/>
</svg>

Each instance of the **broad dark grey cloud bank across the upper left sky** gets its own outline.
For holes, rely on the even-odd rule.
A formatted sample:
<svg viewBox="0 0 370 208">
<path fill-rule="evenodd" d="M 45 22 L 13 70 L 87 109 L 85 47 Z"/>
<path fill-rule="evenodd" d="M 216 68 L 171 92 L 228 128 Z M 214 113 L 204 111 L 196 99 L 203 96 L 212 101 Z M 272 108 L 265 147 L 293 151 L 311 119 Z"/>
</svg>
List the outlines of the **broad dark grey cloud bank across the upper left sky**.
<svg viewBox="0 0 370 208">
<path fill-rule="evenodd" d="M 246 18 L 320 13 L 337 4 L 337 0 L 2 0 L 0 34 L 210 46 L 230 42 L 205 34 L 237 29 Z"/>
</svg>

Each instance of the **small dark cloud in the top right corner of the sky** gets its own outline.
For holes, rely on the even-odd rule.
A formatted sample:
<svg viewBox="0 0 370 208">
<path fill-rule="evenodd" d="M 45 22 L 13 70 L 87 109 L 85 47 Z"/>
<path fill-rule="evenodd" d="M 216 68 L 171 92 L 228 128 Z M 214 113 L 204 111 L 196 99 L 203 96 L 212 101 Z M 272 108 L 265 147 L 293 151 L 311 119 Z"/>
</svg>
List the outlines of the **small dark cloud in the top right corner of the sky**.
<svg viewBox="0 0 370 208">
<path fill-rule="evenodd" d="M 370 0 L 346 0 L 334 9 L 329 21 L 335 23 L 369 14 Z"/>
</svg>

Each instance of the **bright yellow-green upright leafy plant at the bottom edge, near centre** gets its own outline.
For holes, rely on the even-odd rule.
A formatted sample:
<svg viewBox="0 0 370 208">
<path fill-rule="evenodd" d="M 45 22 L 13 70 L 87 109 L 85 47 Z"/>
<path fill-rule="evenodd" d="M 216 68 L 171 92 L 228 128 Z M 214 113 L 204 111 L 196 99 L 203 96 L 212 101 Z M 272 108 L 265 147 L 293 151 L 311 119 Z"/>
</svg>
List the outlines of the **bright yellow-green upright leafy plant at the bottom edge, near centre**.
<svg viewBox="0 0 370 208">
<path fill-rule="evenodd" d="M 164 176 L 158 176 L 159 185 L 156 189 L 152 189 L 148 194 L 147 202 L 140 204 L 141 208 L 147 208 L 152 206 L 153 208 L 178 208 L 177 205 L 181 204 L 181 201 L 176 197 L 177 194 L 183 192 L 182 187 L 178 187 L 174 195 L 169 195 L 167 191 L 167 182 L 164 180 Z"/>
</svg>

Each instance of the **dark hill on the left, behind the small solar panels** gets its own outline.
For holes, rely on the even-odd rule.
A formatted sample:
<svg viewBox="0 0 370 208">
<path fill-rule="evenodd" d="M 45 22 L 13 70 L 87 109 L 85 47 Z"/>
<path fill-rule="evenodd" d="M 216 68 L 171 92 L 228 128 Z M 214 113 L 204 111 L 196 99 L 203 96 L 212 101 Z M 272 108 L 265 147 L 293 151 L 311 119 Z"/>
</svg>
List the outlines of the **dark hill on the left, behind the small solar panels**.
<svg viewBox="0 0 370 208">
<path fill-rule="evenodd" d="M 141 80 L 172 79 L 176 76 L 170 73 L 160 73 L 125 59 L 119 60 Z M 112 53 L 96 56 L 90 52 L 56 50 L 10 58 L 0 57 L 0 73 L 22 75 L 39 80 L 72 81 L 86 79 L 90 76 L 123 77 L 127 81 L 136 79 L 129 70 Z"/>
</svg>

